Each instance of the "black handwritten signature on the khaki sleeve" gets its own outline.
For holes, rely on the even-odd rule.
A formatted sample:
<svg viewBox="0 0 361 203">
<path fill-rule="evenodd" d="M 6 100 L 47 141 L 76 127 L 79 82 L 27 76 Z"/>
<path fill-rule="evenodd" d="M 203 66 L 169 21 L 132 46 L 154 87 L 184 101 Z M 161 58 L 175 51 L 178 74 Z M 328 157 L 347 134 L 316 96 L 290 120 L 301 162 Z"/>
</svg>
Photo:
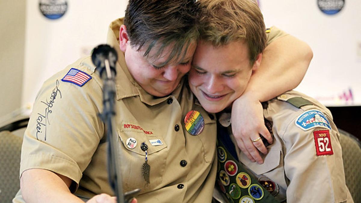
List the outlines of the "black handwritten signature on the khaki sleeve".
<svg viewBox="0 0 361 203">
<path fill-rule="evenodd" d="M 54 105 L 55 99 L 57 95 L 59 94 L 61 98 L 61 91 L 59 90 L 59 81 L 56 80 L 56 86 L 51 92 L 50 100 L 48 99 L 44 101 L 41 101 L 41 103 L 45 104 L 44 114 L 38 113 L 38 118 L 36 119 L 36 139 L 39 140 L 38 133 L 44 133 L 44 140 L 46 141 L 46 126 L 50 125 L 49 122 L 49 114 L 51 114 L 53 111 L 51 108 Z"/>
</svg>

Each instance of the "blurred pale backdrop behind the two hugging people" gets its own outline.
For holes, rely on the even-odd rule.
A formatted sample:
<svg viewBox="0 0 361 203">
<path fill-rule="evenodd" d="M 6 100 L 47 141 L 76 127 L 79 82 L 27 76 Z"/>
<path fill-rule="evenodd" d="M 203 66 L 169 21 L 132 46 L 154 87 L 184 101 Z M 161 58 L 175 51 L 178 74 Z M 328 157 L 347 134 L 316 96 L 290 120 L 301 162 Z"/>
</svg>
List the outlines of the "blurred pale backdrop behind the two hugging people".
<svg viewBox="0 0 361 203">
<path fill-rule="evenodd" d="M 296 90 L 325 104 L 340 128 L 359 136 L 361 1 L 258 4 L 267 27 L 277 26 L 313 49 Z M 45 79 L 105 43 L 109 23 L 124 15 L 126 5 L 127 0 L 1 0 L 0 125 L 28 115 Z"/>
</svg>

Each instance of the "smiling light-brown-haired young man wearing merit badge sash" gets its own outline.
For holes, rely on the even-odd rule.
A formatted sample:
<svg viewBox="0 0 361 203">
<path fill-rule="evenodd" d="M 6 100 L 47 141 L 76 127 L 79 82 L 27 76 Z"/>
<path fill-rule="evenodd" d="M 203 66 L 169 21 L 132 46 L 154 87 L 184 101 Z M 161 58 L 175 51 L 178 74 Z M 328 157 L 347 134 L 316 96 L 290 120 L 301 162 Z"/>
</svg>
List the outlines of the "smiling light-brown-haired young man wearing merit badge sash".
<svg viewBox="0 0 361 203">
<path fill-rule="evenodd" d="M 220 202 L 353 202 L 332 115 L 304 94 L 287 91 L 263 103 L 274 136 L 263 164 L 252 163 L 235 147 L 230 108 L 261 64 L 266 33 L 274 28 L 265 33 L 261 11 L 248 0 L 203 0 L 201 5 L 201 39 L 188 79 L 203 108 L 221 112 L 215 196 Z M 259 135 L 251 140 L 262 142 Z"/>
</svg>

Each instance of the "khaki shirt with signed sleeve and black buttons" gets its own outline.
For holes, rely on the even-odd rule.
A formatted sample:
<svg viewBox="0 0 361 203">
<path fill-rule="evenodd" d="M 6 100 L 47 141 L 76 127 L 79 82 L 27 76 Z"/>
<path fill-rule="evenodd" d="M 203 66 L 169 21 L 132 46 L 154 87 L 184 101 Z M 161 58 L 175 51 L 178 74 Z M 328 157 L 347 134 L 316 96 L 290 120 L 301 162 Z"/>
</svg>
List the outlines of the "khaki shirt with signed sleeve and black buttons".
<svg viewBox="0 0 361 203">
<path fill-rule="evenodd" d="M 140 188 L 140 203 L 211 202 L 217 168 L 213 115 L 211 119 L 194 103 L 184 80 L 164 98 L 145 92 L 131 77 L 119 50 L 120 25 L 120 19 L 110 25 L 108 43 L 118 51 L 116 119 L 124 191 Z M 61 81 L 71 68 L 92 78 L 82 87 Z M 87 57 L 45 81 L 24 135 L 20 174 L 32 168 L 47 169 L 71 178 L 74 184 L 70 189 L 78 196 L 113 195 L 106 170 L 104 124 L 97 116 L 103 108 L 103 93 L 96 72 Z M 184 127 L 184 117 L 191 110 L 204 118 L 199 135 L 191 135 Z M 136 140 L 135 148 L 127 147 L 130 138 Z M 162 144 L 153 146 L 150 140 Z M 142 142 L 148 145 L 151 166 L 147 186 L 141 170 L 145 162 Z M 182 160 L 187 164 L 181 164 Z M 21 194 L 14 202 L 23 202 Z"/>
</svg>

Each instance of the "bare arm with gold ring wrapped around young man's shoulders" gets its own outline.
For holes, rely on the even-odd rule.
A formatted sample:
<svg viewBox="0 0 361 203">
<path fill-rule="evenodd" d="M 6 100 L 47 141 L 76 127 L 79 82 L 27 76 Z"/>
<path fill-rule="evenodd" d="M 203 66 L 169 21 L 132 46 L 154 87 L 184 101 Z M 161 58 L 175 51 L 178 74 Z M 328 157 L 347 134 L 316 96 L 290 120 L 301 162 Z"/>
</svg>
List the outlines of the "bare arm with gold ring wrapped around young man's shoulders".
<svg viewBox="0 0 361 203">
<path fill-rule="evenodd" d="M 261 164 L 263 160 L 258 150 L 267 153 L 261 140 L 252 140 L 261 134 L 272 143 L 271 135 L 264 125 L 260 102 L 297 87 L 312 57 L 311 48 L 291 35 L 274 40 L 264 50 L 260 68 L 252 75 L 244 94 L 236 99 L 232 106 L 234 137 L 238 147 L 251 161 Z"/>
</svg>

